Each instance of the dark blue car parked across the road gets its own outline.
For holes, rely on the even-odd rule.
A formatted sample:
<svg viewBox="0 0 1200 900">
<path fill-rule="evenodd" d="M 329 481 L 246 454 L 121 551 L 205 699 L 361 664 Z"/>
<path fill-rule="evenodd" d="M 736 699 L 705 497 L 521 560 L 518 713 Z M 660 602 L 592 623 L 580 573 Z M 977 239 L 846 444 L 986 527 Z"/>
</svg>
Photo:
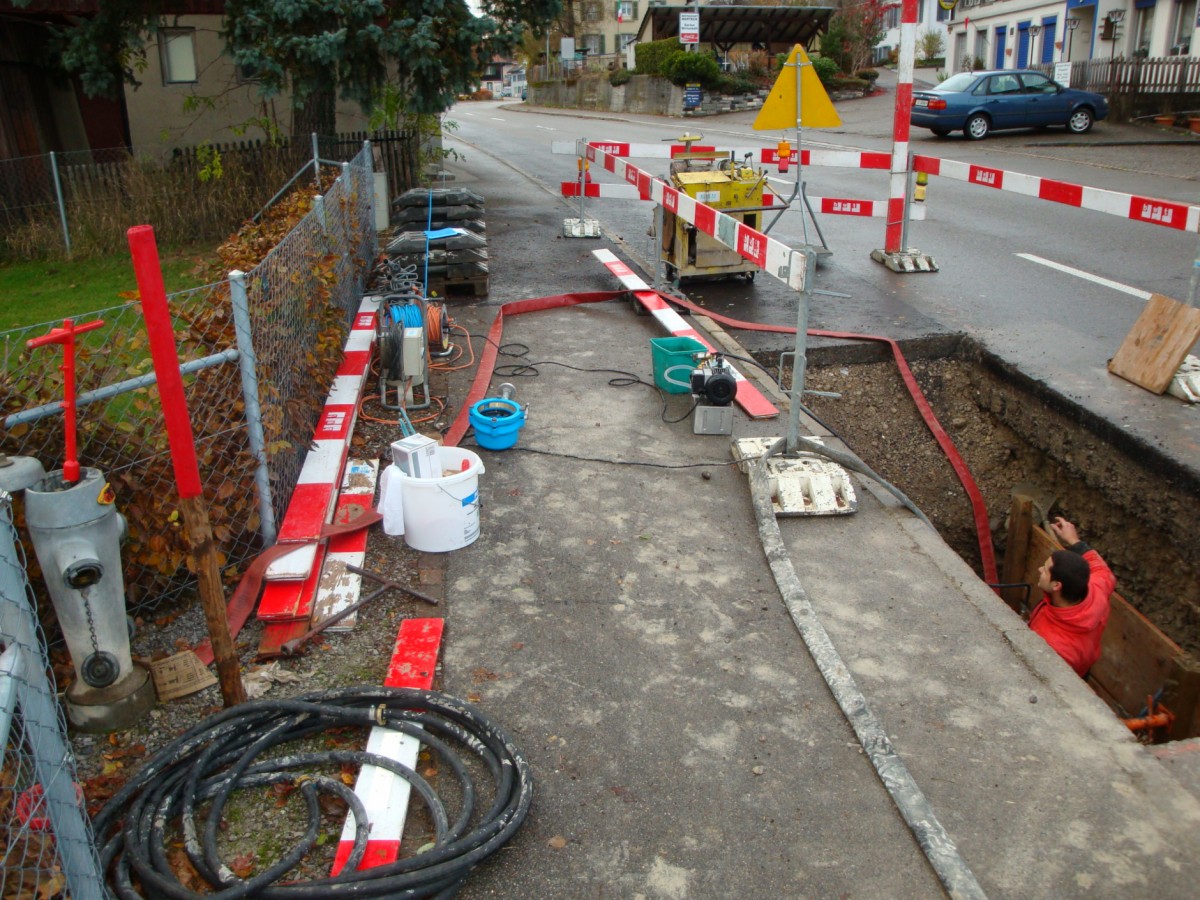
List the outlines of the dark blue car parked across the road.
<svg viewBox="0 0 1200 900">
<path fill-rule="evenodd" d="M 910 121 L 940 138 L 961 131 L 967 140 L 983 140 L 992 131 L 1051 125 L 1086 134 L 1108 114 L 1109 102 L 1099 94 L 1063 88 L 1042 72 L 1009 68 L 959 72 L 932 90 L 914 90 Z"/>
</svg>

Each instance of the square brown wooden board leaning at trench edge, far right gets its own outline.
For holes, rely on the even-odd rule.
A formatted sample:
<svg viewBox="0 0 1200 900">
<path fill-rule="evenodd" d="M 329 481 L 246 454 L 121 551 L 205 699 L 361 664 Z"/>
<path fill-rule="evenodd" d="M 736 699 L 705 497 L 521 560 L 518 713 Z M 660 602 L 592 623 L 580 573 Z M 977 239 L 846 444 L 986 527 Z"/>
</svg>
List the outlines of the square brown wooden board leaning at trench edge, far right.
<svg viewBox="0 0 1200 900">
<path fill-rule="evenodd" d="M 1109 360 L 1109 371 L 1139 388 L 1162 394 L 1196 341 L 1200 341 L 1200 308 L 1151 294 Z"/>
</svg>

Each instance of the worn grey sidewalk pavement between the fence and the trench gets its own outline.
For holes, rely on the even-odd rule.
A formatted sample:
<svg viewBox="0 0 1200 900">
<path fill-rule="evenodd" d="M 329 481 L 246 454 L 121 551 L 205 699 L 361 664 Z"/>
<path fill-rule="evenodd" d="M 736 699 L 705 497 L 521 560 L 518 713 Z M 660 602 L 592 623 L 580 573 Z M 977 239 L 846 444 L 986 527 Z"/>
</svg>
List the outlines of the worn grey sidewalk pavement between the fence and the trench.
<svg viewBox="0 0 1200 900">
<path fill-rule="evenodd" d="M 486 154 L 499 304 L 616 287 L 607 241 Z M 698 324 L 698 320 L 697 320 Z M 528 422 L 479 451 L 482 532 L 445 554 L 442 688 L 509 731 L 536 779 L 463 896 L 930 896 L 938 878 L 805 648 L 728 438 L 692 434 L 625 301 L 506 322 Z M 478 350 L 478 348 L 476 348 Z M 589 371 L 596 370 L 596 371 Z M 466 394 L 470 372 L 451 384 Z M 748 373 L 749 374 L 749 373 Z M 678 420 L 678 421 L 672 421 Z M 815 433 L 815 424 L 808 424 Z M 786 418 L 736 416 L 734 437 Z M 466 445 L 473 445 L 468 437 Z M 845 668 L 990 896 L 1188 896 L 1200 802 L 942 540 L 854 479 L 852 516 L 780 520 Z"/>
</svg>

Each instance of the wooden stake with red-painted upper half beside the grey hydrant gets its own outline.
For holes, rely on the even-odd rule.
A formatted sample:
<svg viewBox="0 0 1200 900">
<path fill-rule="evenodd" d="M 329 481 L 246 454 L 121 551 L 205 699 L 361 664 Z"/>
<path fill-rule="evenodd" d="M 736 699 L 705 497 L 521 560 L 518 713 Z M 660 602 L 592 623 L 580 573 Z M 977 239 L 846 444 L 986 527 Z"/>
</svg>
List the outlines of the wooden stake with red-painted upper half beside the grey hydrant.
<svg viewBox="0 0 1200 900">
<path fill-rule="evenodd" d="M 175 468 L 175 485 L 179 488 L 179 511 L 187 528 L 192 557 L 196 559 L 196 577 L 200 587 L 200 604 L 209 625 L 212 656 L 217 664 L 217 679 L 226 707 L 246 702 L 246 689 L 241 683 L 238 655 L 234 653 L 229 620 L 226 616 L 224 589 L 221 587 L 221 564 L 216 545 L 212 542 L 212 526 L 209 508 L 204 503 L 200 486 L 200 469 L 196 462 L 196 443 L 192 436 L 192 419 L 184 396 L 184 377 L 179 371 L 179 353 L 175 348 L 175 330 L 167 307 L 167 290 L 158 264 L 158 246 L 154 228 L 134 226 L 126 236 L 133 257 L 133 272 L 142 296 L 142 314 L 150 340 L 150 355 L 158 379 L 158 398 L 167 422 L 167 440 L 170 444 L 172 464 Z"/>
</svg>

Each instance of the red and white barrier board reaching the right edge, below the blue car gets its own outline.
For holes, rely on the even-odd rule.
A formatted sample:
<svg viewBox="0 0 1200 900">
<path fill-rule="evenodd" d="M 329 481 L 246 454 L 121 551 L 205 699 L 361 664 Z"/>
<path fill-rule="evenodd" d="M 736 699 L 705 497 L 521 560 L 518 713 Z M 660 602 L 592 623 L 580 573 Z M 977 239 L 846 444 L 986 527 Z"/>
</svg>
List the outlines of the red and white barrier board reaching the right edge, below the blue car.
<svg viewBox="0 0 1200 900">
<path fill-rule="evenodd" d="M 942 160 L 936 156 L 914 156 L 914 172 L 926 175 L 940 175 L 955 181 L 966 181 L 994 191 L 1008 191 L 1039 200 L 1061 203 L 1066 206 L 1104 212 L 1110 216 L 1128 218 L 1133 222 L 1157 224 L 1181 232 L 1200 233 L 1200 205 L 1159 200 L 1153 197 L 1105 191 L 1099 187 L 1074 185 L 1068 181 L 1056 181 L 1049 178 L 1025 175 L 1020 172 L 994 169 L 988 166 L 974 166 L 955 160 Z"/>
</svg>

